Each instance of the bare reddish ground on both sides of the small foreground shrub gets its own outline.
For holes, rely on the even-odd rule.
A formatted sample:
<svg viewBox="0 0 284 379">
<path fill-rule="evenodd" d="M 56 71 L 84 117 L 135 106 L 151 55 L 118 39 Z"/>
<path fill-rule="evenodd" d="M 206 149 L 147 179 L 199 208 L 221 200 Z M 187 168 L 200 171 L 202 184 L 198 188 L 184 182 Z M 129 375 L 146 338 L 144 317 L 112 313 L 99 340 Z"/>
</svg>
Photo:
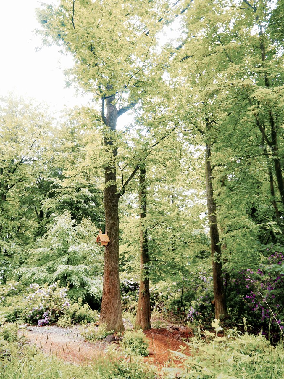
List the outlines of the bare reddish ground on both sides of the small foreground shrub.
<svg viewBox="0 0 284 379">
<path fill-rule="evenodd" d="M 107 341 L 95 343 L 86 342 L 81 336 L 82 326 L 61 328 L 58 326 L 27 326 L 22 327 L 19 333 L 24 335 L 27 343 L 37 346 L 49 356 L 58 357 L 63 361 L 88 364 L 94 359 L 100 359 L 106 353 L 110 345 Z M 154 328 L 145 332 L 149 341 L 148 357 L 154 366 L 164 366 L 172 360 L 171 350 L 177 351 L 184 348 L 185 354 L 190 354 L 185 341 L 192 337 L 192 331 L 187 327 L 174 326 L 172 324 L 164 328 Z M 113 343 L 114 346 L 119 346 Z M 178 364 L 178 360 L 174 360 Z"/>
</svg>

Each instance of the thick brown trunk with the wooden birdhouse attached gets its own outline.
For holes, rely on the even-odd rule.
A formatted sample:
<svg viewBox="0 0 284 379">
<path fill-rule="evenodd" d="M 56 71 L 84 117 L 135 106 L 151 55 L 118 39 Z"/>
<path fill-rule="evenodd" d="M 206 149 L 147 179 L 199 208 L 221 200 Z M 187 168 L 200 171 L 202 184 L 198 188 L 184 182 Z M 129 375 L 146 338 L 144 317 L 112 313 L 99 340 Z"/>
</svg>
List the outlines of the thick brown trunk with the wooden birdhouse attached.
<svg viewBox="0 0 284 379">
<path fill-rule="evenodd" d="M 117 109 L 114 105 L 115 95 L 106 100 L 107 114 L 106 125 L 112 131 L 116 128 Z M 117 149 L 112 147 L 113 142 L 109 136 L 104 137 L 105 146 L 112 150 L 115 158 Z M 109 244 L 105 247 L 105 265 L 103 272 L 103 297 L 101 301 L 101 324 L 106 324 L 108 330 L 122 332 L 121 297 L 119 286 L 119 194 L 117 194 L 116 168 L 113 160 L 105 168 L 105 218 L 106 233 L 109 236 Z"/>
</svg>

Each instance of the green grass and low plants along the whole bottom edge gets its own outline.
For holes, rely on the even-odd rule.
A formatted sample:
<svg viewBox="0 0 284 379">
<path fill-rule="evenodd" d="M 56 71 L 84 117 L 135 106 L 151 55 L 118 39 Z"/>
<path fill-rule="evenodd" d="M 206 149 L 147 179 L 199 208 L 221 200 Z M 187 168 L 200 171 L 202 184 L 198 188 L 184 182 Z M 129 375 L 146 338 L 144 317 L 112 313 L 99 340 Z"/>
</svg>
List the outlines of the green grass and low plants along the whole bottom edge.
<svg viewBox="0 0 284 379">
<path fill-rule="evenodd" d="M 261 335 L 239 334 L 236 329 L 220 337 L 216 321 L 215 333 L 199 330 L 188 342 L 191 356 L 173 352 L 182 365 L 159 373 L 123 344 L 120 349 L 110 345 L 91 365 L 75 365 L 48 357 L 21 338 L 11 340 L 5 330 L 0 335 L 0 379 L 284 379 L 283 344 L 274 347 Z M 8 327 L 13 331 L 14 326 Z"/>
</svg>

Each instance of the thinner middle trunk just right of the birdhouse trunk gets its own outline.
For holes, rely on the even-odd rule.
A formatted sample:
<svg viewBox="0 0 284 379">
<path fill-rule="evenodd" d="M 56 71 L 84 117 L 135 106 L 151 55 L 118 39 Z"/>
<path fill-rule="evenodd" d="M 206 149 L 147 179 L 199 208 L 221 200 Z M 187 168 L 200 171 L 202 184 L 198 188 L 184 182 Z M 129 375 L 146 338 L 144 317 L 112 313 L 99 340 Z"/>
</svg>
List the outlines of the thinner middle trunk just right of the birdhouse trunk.
<svg viewBox="0 0 284 379">
<path fill-rule="evenodd" d="M 145 167 L 140 168 L 140 287 L 139 300 L 137 304 L 137 315 L 135 328 L 148 330 L 151 329 L 151 307 L 150 307 L 150 289 L 149 289 L 149 252 L 148 252 L 148 234 L 145 223 L 146 217 L 146 185 L 145 185 Z"/>
</svg>

